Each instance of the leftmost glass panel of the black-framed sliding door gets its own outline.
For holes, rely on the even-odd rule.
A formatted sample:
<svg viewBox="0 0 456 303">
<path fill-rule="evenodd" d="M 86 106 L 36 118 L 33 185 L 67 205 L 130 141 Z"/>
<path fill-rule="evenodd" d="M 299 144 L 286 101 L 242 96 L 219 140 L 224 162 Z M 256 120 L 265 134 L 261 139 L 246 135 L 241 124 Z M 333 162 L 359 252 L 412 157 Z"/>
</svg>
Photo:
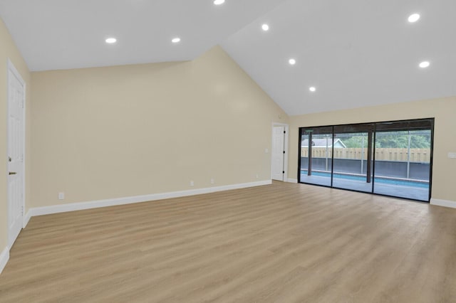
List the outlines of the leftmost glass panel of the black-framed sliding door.
<svg viewBox="0 0 456 303">
<path fill-rule="evenodd" d="M 300 182 L 331 186 L 332 127 L 301 129 Z"/>
</svg>

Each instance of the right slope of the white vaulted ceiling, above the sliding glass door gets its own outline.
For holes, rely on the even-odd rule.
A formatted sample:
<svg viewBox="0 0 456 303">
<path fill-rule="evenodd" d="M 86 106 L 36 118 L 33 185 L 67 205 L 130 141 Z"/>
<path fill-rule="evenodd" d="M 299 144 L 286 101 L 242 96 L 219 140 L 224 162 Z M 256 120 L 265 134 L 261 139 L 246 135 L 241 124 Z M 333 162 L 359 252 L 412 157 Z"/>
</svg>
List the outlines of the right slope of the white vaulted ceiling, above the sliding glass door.
<svg viewBox="0 0 456 303">
<path fill-rule="evenodd" d="M 421 18 L 409 23 L 414 12 Z M 289 0 L 222 47 L 288 115 L 447 97 L 455 13 L 453 0 Z"/>
</svg>

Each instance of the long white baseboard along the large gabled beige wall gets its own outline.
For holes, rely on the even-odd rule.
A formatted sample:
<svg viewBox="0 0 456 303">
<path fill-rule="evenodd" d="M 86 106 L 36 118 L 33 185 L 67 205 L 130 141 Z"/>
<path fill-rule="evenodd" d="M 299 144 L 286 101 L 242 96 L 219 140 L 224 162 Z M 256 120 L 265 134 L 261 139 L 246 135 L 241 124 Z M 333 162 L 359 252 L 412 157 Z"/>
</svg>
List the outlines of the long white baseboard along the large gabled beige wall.
<svg viewBox="0 0 456 303">
<path fill-rule="evenodd" d="M 27 217 L 49 215 L 51 213 L 65 213 L 67 211 L 81 211 L 84 209 L 100 208 L 100 207 L 106 207 L 106 206 L 118 206 L 118 205 L 125 205 L 125 204 L 131 204 L 131 203 L 156 201 L 156 200 L 163 200 L 163 199 L 167 199 L 167 198 L 179 198 L 179 197 L 184 197 L 184 196 L 200 195 L 202 193 L 214 193 L 217 191 L 228 191 L 231 189 L 263 186 L 263 185 L 268 185 L 268 184 L 272 184 L 272 181 L 266 180 L 266 181 L 257 181 L 257 182 L 250 182 L 250 183 L 244 183 L 244 184 L 232 184 L 232 185 L 209 187 L 209 188 L 198 188 L 198 189 L 191 189 L 188 191 L 173 191 L 170 193 L 152 193 L 150 195 L 145 195 L 145 196 L 113 198 L 113 199 L 98 200 L 98 201 L 61 204 L 61 205 L 56 205 L 56 206 L 43 206 L 43 207 L 30 208 L 30 210 L 27 213 Z"/>
</svg>

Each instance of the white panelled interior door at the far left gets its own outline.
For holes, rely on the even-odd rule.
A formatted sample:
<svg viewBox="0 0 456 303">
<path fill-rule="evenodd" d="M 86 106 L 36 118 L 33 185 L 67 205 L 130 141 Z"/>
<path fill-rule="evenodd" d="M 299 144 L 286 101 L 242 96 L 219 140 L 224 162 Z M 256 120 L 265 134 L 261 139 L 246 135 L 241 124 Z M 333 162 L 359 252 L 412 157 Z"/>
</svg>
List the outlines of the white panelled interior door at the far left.
<svg viewBox="0 0 456 303">
<path fill-rule="evenodd" d="M 11 63 L 8 68 L 8 247 L 21 232 L 24 216 L 25 84 Z"/>
</svg>

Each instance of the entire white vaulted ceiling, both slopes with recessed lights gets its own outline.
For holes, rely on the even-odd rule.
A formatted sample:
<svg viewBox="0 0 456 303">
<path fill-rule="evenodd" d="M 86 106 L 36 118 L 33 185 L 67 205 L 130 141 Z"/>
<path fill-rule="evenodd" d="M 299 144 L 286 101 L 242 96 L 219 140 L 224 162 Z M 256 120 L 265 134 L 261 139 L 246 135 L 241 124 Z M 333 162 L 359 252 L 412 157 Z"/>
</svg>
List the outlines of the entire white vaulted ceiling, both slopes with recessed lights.
<svg viewBox="0 0 456 303">
<path fill-rule="evenodd" d="M 192 60 L 219 44 L 289 115 L 456 95 L 455 13 L 454 0 L 0 0 L 31 70 Z"/>
</svg>

